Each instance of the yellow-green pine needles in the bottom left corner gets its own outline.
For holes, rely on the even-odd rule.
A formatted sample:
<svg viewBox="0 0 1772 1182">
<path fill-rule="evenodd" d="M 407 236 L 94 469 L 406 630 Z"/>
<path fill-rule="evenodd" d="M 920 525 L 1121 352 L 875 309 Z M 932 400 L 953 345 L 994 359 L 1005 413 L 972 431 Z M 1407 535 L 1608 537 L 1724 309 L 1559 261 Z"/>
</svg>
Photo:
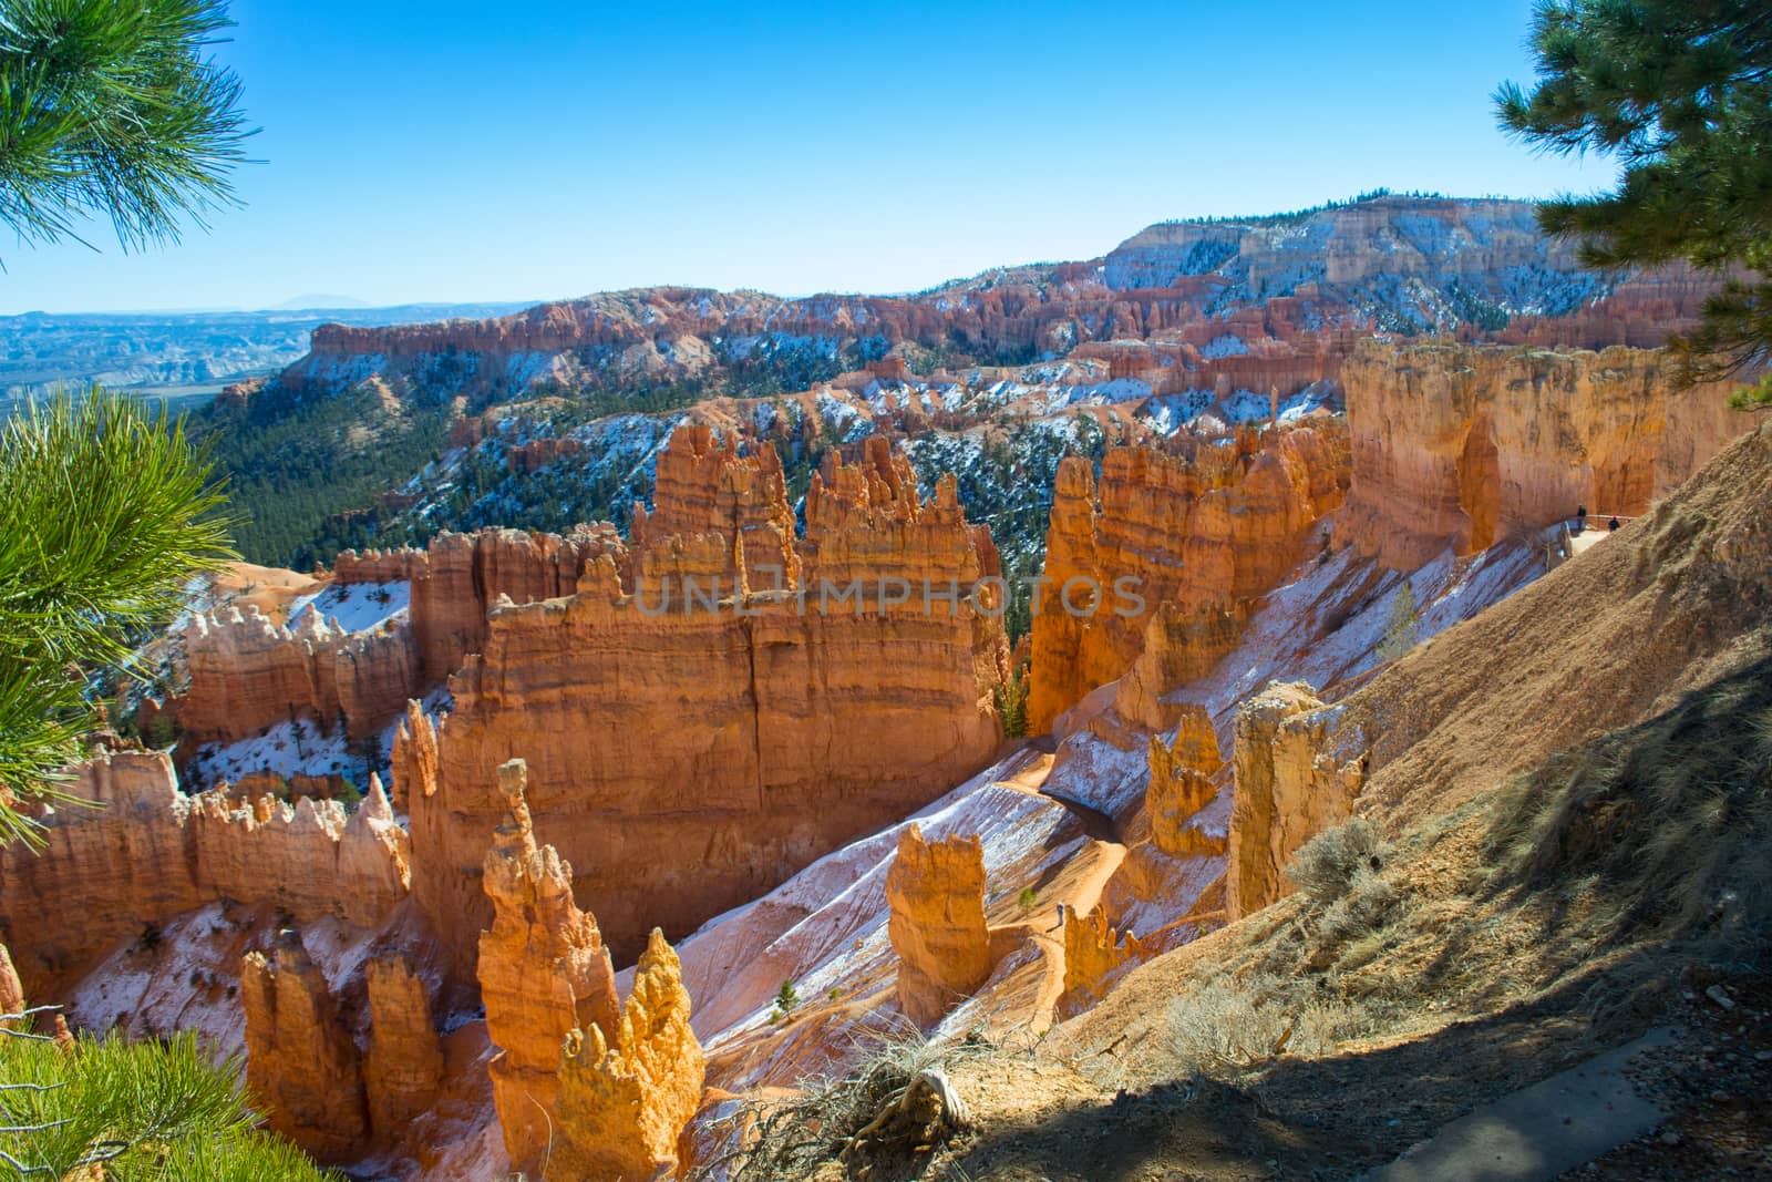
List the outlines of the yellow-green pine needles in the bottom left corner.
<svg viewBox="0 0 1772 1182">
<path fill-rule="evenodd" d="M 289 1141 L 253 1129 L 237 1085 L 239 1061 L 220 1069 L 181 1033 L 167 1042 L 82 1035 L 64 1051 L 23 1030 L 0 1033 L 0 1164 L 12 1177 L 110 1182 L 335 1180 Z"/>
</svg>

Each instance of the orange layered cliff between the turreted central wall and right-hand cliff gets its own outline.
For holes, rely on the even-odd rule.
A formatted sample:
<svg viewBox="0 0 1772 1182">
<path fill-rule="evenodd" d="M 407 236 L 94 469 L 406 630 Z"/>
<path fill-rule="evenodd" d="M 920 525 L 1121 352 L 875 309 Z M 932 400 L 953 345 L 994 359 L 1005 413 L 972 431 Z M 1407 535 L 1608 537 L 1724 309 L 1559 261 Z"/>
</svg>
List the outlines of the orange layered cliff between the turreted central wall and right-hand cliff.
<svg viewBox="0 0 1772 1182">
<path fill-rule="evenodd" d="M 1030 732 L 1125 673 L 1146 627 L 1166 640 L 1146 682 L 1207 673 L 1235 645 L 1249 603 L 1318 537 L 1347 480 L 1347 431 L 1327 416 L 1239 431 L 1187 457 L 1111 448 L 1099 487 L 1088 461 L 1063 461 L 1033 618 Z"/>
</svg>

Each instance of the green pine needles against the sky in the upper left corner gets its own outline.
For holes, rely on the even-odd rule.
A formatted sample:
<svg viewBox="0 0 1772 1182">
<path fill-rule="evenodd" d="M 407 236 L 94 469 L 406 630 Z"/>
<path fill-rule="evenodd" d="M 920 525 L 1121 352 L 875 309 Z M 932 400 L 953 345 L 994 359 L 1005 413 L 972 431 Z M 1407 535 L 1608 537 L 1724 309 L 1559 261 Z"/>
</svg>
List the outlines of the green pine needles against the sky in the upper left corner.
<svg viewBox="0 0 1772 1182">
<path fill-rule="evenodd" d="M 218 0 L 0 4 L 0 220 L 25 243 L 108 218 L 126 250 L 234 204 L 239 78 L 206 57 Z"/>
</svg>

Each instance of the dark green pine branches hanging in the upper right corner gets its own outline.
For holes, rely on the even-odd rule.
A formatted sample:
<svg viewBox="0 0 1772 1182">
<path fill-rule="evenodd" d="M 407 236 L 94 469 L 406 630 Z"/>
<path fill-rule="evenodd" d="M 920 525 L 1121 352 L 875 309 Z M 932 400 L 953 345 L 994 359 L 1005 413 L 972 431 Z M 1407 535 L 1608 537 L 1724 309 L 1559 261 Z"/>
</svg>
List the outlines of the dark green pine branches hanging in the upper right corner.
<svg viewBox="0 0 1772 1182">
<path fill-rule="evenodd" d="M 1538 83 L 1496 92 L 1501 124 L 1550 152 L 1621 165 L 1607 193 L 1540 207 L 1597 268 L 1685 259 L 1726 276 L 1673 342 L 1689 381 L 1772 358 L 1772 19 L 1765 0 L 1540 0 Z M 1744 402 L 1772 402 L 1763 379 Z"/>
</svg>

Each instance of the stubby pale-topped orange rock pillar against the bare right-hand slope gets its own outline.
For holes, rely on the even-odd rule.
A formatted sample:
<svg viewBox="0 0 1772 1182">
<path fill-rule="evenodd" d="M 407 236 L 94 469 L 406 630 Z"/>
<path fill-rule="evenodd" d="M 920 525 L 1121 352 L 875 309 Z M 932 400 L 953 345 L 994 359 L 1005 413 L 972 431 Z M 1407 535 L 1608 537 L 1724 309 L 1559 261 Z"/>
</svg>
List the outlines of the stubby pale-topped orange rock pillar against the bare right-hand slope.
<svg viewBox="0 0 1772 1182">
<path fill-rule="evenodd" d="M 1230 865 L 1224 906 L 1232 920 L 1292 893 L 1292 854 L 1347 820 L 1364 783 L 1359 757 L 1338 760 L 1331 719 L 1304 682 L 1269 686 L 1237 709 L 1232 762 Z"/>
</svg>

